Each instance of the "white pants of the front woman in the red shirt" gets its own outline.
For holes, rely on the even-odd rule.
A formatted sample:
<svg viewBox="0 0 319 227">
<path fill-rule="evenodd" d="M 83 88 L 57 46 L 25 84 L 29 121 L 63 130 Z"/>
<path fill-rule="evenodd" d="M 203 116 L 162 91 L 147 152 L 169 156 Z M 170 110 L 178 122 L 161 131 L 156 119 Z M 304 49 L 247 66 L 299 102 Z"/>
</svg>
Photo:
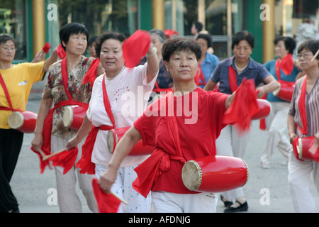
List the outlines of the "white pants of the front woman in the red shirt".
<svg viewBox="0 0 319 227">
<path fill-rule="evenodd" d="M 216 213 L 218 198 L 213 193 L 176 194 L 152 192 L 155 213 Z"/>
</svg>

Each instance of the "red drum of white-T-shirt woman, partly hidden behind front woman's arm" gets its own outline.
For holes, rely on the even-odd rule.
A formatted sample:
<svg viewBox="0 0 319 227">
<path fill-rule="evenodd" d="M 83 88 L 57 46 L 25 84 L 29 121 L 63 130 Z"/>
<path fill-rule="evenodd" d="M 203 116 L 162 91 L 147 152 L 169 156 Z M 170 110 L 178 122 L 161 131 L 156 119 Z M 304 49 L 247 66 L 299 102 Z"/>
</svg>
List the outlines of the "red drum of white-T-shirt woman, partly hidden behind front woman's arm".
<svg viewBox="0 0 319 227">
<path fill-rule="evenodd" d="M 108 152 L 114 152 L 116 145 L 130 127 L 115 128 L 108 131 Z M 143 145 L 142 140 L 138 141 L 128 155 L 150 155 L 154 148 L 150 145 Z"/>
</svg>

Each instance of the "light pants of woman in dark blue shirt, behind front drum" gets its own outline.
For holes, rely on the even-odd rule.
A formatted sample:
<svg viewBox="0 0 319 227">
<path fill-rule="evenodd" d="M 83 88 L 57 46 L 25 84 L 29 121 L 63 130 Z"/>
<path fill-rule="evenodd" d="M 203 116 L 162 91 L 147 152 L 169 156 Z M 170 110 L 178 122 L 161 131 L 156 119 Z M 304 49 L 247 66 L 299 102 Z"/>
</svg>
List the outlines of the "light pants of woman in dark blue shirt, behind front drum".
<svg viewBox="0 0 319 227">
<path fill-rule="evenodd" d="M 234 157 L 243 157 L 245 150 L 250 140 L 250 132 L 245 135 L 238 135 L 235 126 L 226 126 L 220 132 L 219 137 L 216 140 L 217 155 L 228 155 Z M 228 192 L 221 193 L 226 200 L 238 199 L 244 196 L 242 188 L 230 190 Z"/>
</svg>

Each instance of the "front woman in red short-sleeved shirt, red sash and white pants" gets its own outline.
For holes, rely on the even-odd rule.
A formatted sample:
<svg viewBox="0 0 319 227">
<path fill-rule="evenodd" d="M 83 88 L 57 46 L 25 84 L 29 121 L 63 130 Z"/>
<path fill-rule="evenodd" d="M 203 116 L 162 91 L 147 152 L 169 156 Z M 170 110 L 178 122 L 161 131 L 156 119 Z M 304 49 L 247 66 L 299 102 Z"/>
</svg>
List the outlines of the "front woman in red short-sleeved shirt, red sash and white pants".
<svg viewBox="0 0 319 227">
<path fill-rule="evenodd" d="M 135 168 L 138 179 L 133 187 L 143 195 L 152 191 L 154 211 L 215 212 L 216 195 L 186 189 L 181 180 L 181 169 L 186 160 L 216 155 L 215 140 L 223 128 L 223 114 L 231 104 L 233 95 L 204 92 L 196 86 L 194 77 L 201 58 L 201 47 L 196 40 L 172 38 L 167 40 L 162 51 L 164 63 L 174 79 L 174 93 L 169 92 L 148 106 L 144 115 L 125 133 L 99 184 L 101 189 L 109 192 L 121 163 L 142 138 L 143 143 L 155 146 L 155 150 Z M 169 114 L 162 114 L 167 109 L 167 99 L 174 101 L 171 118 L 167 116 Z M 183 103 L 182 109 L 196 105 L 194 109 L 201 111 L 194 111 L 192 116 L 186 116 L 183 111 L 184 114 L 177 116 L 177 105 Z M 174 136 L 177 134 L 179 136 Z"/>
</svg>

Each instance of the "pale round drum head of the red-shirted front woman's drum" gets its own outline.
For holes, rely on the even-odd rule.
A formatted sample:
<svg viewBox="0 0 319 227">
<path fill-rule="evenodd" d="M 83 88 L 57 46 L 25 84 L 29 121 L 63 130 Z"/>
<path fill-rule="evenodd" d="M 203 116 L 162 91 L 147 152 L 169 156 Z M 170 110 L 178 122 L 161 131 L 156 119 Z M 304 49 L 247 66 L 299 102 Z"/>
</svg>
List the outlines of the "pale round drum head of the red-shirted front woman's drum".
<svg viewBox="0 0 319 227">
<path fill-rule="evenodd" d="M 196 191 L 201 186 L 201 167 L 194 160 L 185 163 L 181 170 L 181 179 L 185 187 L 191 191 Z"/>
</svg>

